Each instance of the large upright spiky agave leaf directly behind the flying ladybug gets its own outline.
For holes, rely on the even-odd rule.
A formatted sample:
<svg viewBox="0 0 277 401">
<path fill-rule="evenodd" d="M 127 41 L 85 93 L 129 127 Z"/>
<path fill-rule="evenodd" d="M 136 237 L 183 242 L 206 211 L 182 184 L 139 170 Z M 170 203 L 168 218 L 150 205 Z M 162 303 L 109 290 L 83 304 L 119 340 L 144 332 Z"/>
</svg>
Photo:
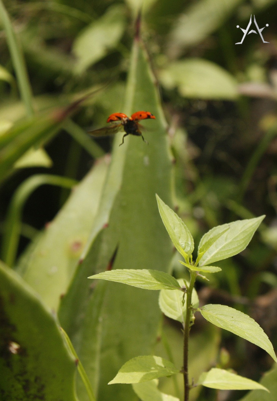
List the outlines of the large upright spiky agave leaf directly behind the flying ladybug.
<svg viewBox="0 0 277 401">
<path fill-rule="evenodd" d="M 115 111 L 127 115 L 137 110 L 151 111 L 156 120 L 152 121 L 152 131 L 144 133 L 149 145 L 140 137 L 128 136 L 124 145 L 119 147 L 122 133 L 115 137 L 90 245 L 83 253 L 83 263 L 62 300 L 59 312 L 63 327 L 71 335 L 94 388 L 97 387 L 95 381 L 99 380 L 98 398 L 103 401 L 111 398 L 114 401 L 135 399 L 129 386 L 107 386 L 107 383 L 133 356 L 151 354 L 161 314 L 156 292 L 99 282 L 97 287 L 103 286 L 106 293 L 96 333 L 95 322 L 90 319 L 94 302 L 91 297 L 92 282 L 86 277 L 106 270 L 115 248 L 117 253 L 113 257 L 113 269 L 143 267 L 166 271 L 172 253 L 155 198 L 157 192 L 170 204 L 171 163 L 166 124 L 147 60 L 142 44 L 136 39 L 125 107 Z M 95 333 L 93 337 L 92 332 Z M 91 367 L 89 363 L 90 352 L 95 355 L 95 347 L 98 347 L 97 361 L 100 366 L 100 372 L 96 373 L 95 366 Z M 86 399 L 85 396 L 82 399 Z"/>
</svg>

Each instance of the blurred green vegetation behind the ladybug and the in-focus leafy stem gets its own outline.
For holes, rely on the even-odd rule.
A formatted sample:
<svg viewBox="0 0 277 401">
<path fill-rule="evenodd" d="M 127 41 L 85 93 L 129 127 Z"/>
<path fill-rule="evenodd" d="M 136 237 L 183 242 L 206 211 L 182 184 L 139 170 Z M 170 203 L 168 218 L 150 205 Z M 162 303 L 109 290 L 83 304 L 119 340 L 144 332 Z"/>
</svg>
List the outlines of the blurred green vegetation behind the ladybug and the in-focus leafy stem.
<svg viewBox="0 0 277 401">
<path fill-rule="evenodd" d="M 155 349 L 181 366 L 180 327 L 164 320 L 162 330 L 157 294 L 120 284 L 92 290 L 86 279 L 112 262 L 184 275 L 156 192 L 196 239 L 215 225 L 266 215 L 247 250 L 222 262 L 222 273 L 198 282 L 198 290 L 202 303 L 250 314 L 276 349 L 276 2 L 144 1 L 142 41 L 133 43 L 140 6 L 0 0 L 4 399 L 9 391 L 13 399 L 76 399 L 76 367 L 50 310 L 99 400 L 137 399 L 129 385 L 107 386 L 133 356 Z M 269 24 L 262 32 L 269 43 L 251 34 L 235 45 L 243 35 L 236 26 L 246 28 L 251 14 L 260 28 Z M 119 148 L 122 134 L 113 144 L 86 133 L 113 112 L 140 109 L 156 115 L 145 124 L 148 146 L 127 137 Z M 255 380 L 269 371 L 265 352 L 197 317 L 195 379 L 213 364 Z M 160 386 L 182 391 L 178 381 Z M 78 378 L 77 394 L 87 399 Z M 196 397 L 237 400 L 242 393 L 195 389 Z M 275 399 L 274 389 L 259 397 Z"/>
</svg>

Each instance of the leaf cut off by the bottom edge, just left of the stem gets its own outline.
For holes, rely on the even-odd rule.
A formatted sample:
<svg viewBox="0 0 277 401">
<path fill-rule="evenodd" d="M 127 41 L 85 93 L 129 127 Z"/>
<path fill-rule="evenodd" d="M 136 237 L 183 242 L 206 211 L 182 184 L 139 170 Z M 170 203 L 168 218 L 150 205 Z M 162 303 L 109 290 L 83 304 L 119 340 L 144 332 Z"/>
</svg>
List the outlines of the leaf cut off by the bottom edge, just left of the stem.
<svg viewBox="0 0 277 401">
<path fill-rule="evenodd" d="M 142 401 L 180 401 L 179 398 L 164 394 L 158 389 L 158 379 L 133 383 L 133 391 Z"/>
</svg>

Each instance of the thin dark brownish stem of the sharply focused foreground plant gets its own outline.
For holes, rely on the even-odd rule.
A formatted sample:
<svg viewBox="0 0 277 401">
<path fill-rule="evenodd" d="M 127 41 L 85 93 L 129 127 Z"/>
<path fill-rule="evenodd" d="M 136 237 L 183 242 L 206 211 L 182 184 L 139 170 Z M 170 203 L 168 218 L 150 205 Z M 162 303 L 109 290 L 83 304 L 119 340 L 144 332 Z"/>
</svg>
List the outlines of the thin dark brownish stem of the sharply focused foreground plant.
<svg viewBox="0 0 277 401">
<path fill-rule="evenodd" d="M 190 392 L 190 385 L 188 383 L 188 338 L 190 335 L 191 317 L 192 317 L 192 290 L 194 288 L 194 283 L 196 280 L 197 273 L 195 271 L 190 271 L 190 286 L 186 292 L 186 321 L 184 327 L 184 359 L 183 359 L 183 374 L 184 374 L 184 401 L 188 401 L 188 396 Z"/>
</svg>

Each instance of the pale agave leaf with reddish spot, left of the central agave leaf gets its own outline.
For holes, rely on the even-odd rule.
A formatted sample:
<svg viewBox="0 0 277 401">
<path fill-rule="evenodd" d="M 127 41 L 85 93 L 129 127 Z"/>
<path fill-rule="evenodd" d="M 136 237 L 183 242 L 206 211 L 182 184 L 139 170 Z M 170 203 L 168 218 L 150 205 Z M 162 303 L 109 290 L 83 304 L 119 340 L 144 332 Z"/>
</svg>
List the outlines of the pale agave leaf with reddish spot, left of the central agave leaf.
<svg viewBox="0 0 277 401">
<path fill-rule="evenodd" d="M 44 302 L 57 310 L 67 291 L 95 219 L 107 163 L 98 162 L 78 184 L 31 253 L 18 266 Z M 51 291 L 49 290 L 51 289 Z"/>
</svg>

